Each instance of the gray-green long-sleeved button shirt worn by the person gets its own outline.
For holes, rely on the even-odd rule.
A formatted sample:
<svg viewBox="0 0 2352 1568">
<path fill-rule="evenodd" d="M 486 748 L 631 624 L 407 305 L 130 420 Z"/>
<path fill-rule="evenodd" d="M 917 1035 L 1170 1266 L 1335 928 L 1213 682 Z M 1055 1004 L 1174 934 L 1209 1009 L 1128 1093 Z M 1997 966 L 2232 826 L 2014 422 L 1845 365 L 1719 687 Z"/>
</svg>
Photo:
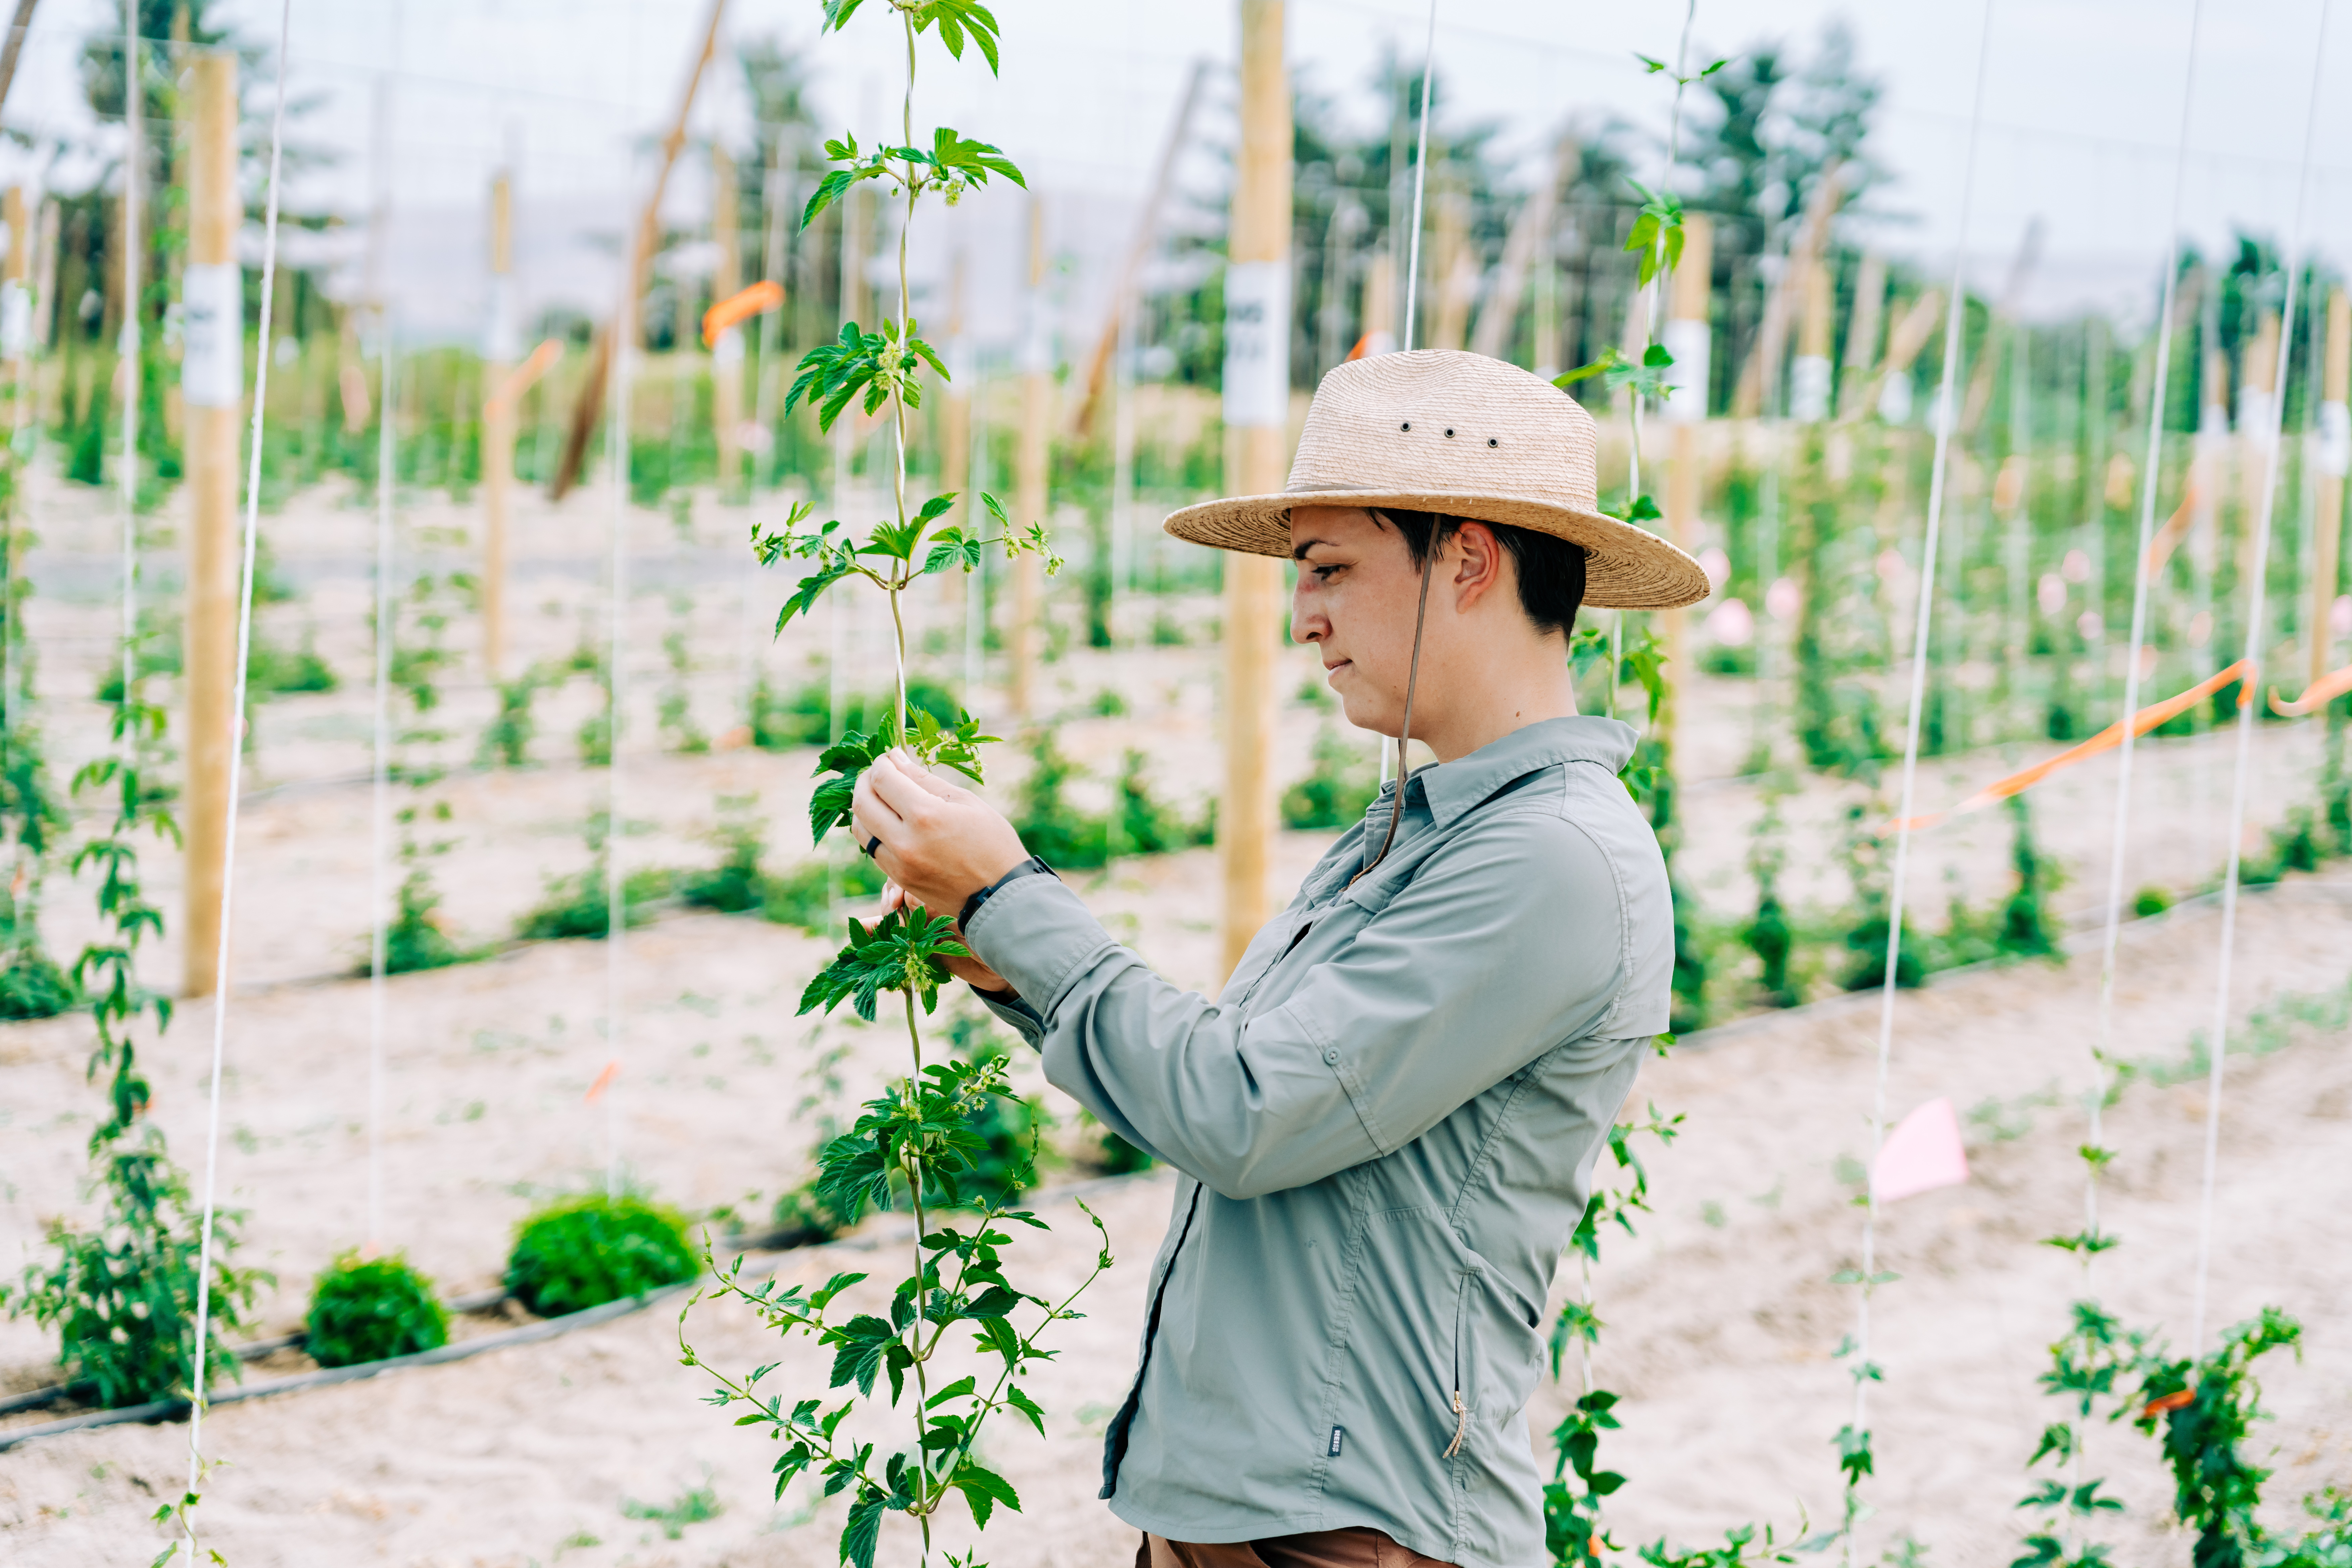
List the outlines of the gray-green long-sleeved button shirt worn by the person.
<svg viewBox="0 0 2352 1568">
<path fill-rule="evenodd" d="M 1675 959 L 1632 743 L 1543 719 L 1423 769 L 1350 882 L 1383 788 L 1214 1001 L 1051 877 L 974 914 L 1047 1079 L 1183 1173 L 1103 1446 L 1127 1523 L 1543 1559 L 1543 1305 Z"/>
</svg>

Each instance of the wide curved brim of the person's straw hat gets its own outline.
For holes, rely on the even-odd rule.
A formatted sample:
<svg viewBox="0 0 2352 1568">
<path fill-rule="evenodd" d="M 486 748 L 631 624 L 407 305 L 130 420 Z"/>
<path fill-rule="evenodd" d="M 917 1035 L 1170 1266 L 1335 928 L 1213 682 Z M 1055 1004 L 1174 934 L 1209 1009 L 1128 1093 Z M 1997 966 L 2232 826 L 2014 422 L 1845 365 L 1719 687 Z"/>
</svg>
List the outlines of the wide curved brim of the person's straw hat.
<svg viewBox="0 0 2352 1568">
<path fill-rule="evenodd" d="M 1317 489 L 1279 496 L 1228 496 L 1169 512 L 1176 538 L 1249 555 L 1291 555 L 1294 505 L 1397 508 L 1552 534 L 1585 548 L 1585 604 L 1599 609 L 1679 609 L 1712 592 L 1705 569 L 1684 550 L 1630 522 L 1529 496 L 1463 491 Z"/>
</svg>

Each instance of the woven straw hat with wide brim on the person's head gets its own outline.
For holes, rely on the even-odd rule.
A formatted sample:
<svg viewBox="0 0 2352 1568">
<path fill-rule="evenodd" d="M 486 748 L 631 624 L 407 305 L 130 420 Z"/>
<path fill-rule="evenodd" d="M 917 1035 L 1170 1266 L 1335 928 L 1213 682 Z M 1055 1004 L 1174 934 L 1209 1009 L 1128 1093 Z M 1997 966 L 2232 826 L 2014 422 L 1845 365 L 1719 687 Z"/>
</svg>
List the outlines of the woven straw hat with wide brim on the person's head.
<svg viewBox="0 0 2352 1568">
<path fill-rule="evenodd" d="M 1291 552 L 1294 505 L 1392 505 L 1557 534 L 1585 548 L 1585 604 L 1672 609 L 1708 597 L 1708 574 L 1649 529 L 1599 510 L 1592 416 L 1515 364 L 1442 348 L 1341 364 L 1308 407 L 1279 496 L 1171 512 L 1197 545 Z"/>
</svg>

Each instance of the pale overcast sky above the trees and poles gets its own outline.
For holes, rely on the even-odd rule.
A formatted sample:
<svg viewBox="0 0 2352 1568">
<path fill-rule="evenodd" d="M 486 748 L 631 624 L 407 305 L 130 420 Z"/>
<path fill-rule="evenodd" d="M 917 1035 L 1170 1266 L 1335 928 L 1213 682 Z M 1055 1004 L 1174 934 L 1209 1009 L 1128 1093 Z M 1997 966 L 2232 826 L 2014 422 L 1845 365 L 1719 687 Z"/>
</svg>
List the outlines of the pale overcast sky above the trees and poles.
<svg viewBox="0 0 2352 1568">
<path fill-rule="evenodd" d="M 275 35 L 273 0 L 221 0 L 214 9 L 249 40 Z M 724 35 L 776 35 L 811 49 L 823 118 L 870 134 L 894 113 L 903 56 L 887 12 L 868 9 L 847 35 L 816 40 L 816 0 L 736 0 Z M 73 59 L 111 14 L 101 0 L 42 5 L 9 127 L 87 125 Z M 633 146 L 659 132 L 675 101 L 706 9 L 699 0 L 294 0 L 292 16 L 294 85 L 320 96 L 299 134 L 341 153 L 301 197 L 365 209 L 376 172 L 372 101 L 390 85 L 386 172 L 395 209 L 409 216 L 395 266 L 405 259 L 419 275 L 463 277 L 480 268 L 482 190 L 506 148 L 515 148 L 524 202 L 567 214 L 574 252 L 579 228 L 597 214 L 612 212 L 619 228 L 647 176 Z M 1117 228 L 1108 214 L 1148 179 L 1190 61 L 1232 61 L 1235 7 L 1002 0 L 997 16 L 1002 80 L 974 59 L 941 63 L 924 78 L 917 118 L 1000 143 L 1033 188 L 1084 197 L 1065 205 L 1063 228 L 1075 223 L 1065 240 L 1075 252 L 1115 252 L 1091 230 Z M 1291 0 L 1291 61 L 1369 120 L 1378 106 L 1364 82 L 1381 52 L 1416 59 L 1428 16 L 1418 0 Z M 2098 301 L 2145 313 L 2173 202 L 2190 0 L 2006 0 L 1990 9 L 1990 38 L 1987 12 L 1971 0 L 1700 0 L 1696 52 L 1712 59 L 1785 40 L 1804 54 L 1832 16 L 1853 28 L 1858 66 L 1884 82 L 1870 146 L 1893 181 L 1879 205 L 1907 214 L 1879 235 L 1891 252 L 1943 273 L 1964 244 L 1973 275 L 1990 284 L 2039 216 L 2046 263 L 2032 308 Z M 1661 0 L 1439 0 L 1437 68 L 1465 113 L 1503 122 L 1512 150 L 1538 148 L 1576 118 L 1621 115 L 1663 132 L 1670 87 L 1644 75 L 1632 54 L 1670 56 L 1682 19 L 1684 5 Z M 2180 197 L 2192 237 L 2218 242 L 2241 226 L 2286 240 L 2319 19 L 2321 0 L 2204 5 Z M 2310 183 L 2310 242 L 2331 259 L 2352 256 L 2352 56 L 2343 33 L 2326 42 L 2319 73 Z M 1971 183 L 1964 165 L 1980 38 L 1987 71 Z M 696 129 L 739 141 L 743 125 L 743 96 L 722 66 Z M 21 172 L 24 158 L 9 158 Z M 689 174 L 673 207 L 689 214 L 703 200 Z M 562 275 L 579 275 L 579 263 L 574 256 Z"/>
</svg>

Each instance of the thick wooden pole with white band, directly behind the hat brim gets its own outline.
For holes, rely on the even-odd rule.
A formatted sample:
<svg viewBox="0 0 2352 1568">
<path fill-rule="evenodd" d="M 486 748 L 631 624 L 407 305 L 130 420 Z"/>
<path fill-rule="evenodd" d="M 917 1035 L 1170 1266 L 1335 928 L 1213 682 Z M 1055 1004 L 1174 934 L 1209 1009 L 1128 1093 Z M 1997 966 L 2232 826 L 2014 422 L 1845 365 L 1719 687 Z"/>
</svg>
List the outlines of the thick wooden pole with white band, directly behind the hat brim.
<svg viewBox="0 0 2352 1568">
<path fill-rule="evenodd" d="M 1225 430 L 1242 494 L 1279 491 L 1291 407 L 1291 82 L 1284 0 L 1242 0 L 1242 155 L 1225 268 Z M 1275 842 L 1275 618 L 1282 562 L 1228 552 L 1225 795 L 1216 837 L 1225 877 L 1225 971 L 1265 924 Z M 1399 741 L 1402 745 L 1402 741 Z"/>
</svg>

